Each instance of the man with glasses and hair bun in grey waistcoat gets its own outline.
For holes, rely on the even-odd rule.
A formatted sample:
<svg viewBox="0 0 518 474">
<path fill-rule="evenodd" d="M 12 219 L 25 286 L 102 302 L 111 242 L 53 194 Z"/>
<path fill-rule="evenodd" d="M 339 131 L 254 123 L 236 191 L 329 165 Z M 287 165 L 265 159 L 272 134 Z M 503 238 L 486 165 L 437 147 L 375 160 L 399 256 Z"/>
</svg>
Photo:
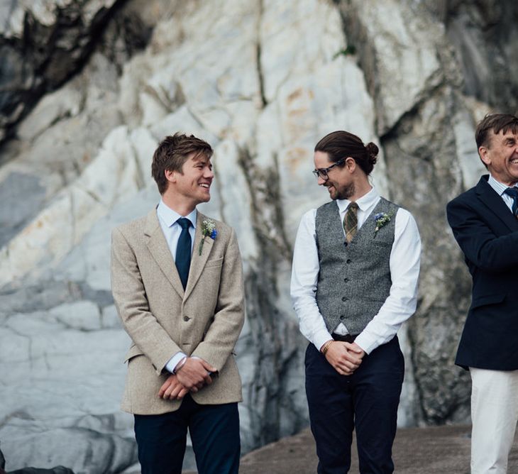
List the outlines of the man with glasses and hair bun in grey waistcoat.
<svg viewBox="0 0 518 474">
<path fill-rule="evenodd" d="M 314 152 L 314 175 L 332 201 L 302 216 L 291 294 L 309 341 L 318 473 L 348 472 L 353 429 L 360 473 L 392 473 L 404 376 L 396 334 L 416 309 L 419 231 L 412 214 L 369 182 L 378 146 L 336 131 Z"/>
</svg>

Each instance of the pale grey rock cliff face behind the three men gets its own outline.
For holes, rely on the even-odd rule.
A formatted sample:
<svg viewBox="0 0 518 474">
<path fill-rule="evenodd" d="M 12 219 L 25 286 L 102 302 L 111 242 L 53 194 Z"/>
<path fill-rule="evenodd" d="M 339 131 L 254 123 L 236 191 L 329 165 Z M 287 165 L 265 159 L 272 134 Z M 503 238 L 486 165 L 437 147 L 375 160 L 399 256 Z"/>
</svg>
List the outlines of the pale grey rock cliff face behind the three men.
<svg viewBox="0 0 518 474">
<path fill-rule="evenodd" d="M 7 470 L 117 473 L 136 462 L 132 419 L 119 411 L 128 336 L 111 299 L 110 231 L 158 202 L 150 161 L 175 131 L 214 145 L 202 210 L 236 228 L 243 254 L 246 451 L 307 425 L 290 263 L 302 213 L 327 199 L 312 149 L 337 129 L 380 144 L 373 181 L 412 211 L 424 244 L 419 309 L 400 334 L 399 421 L 468 420 L 453 355 L 470 282 L 444 206 L 483 171 L 476 121 L 517 109 L 517 15 L 512 2 L 483 0 L 2 6 Z"/>
</svg>

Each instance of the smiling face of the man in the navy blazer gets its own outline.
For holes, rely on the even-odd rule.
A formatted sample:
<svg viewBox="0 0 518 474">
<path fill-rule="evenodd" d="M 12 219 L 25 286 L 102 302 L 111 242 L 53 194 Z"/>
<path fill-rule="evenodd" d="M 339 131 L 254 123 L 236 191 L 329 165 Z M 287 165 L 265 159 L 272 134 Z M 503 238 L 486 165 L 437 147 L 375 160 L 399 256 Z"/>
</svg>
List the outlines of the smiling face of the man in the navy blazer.
<svg viewBox="0 0 518 474">
<path fill-rule="evenodd" d="M 481 160 L 492 177 L 512 186 L 518 182 L 518 134 L 490 132 L 486 145 L 478 148 Z"/>
</svg>

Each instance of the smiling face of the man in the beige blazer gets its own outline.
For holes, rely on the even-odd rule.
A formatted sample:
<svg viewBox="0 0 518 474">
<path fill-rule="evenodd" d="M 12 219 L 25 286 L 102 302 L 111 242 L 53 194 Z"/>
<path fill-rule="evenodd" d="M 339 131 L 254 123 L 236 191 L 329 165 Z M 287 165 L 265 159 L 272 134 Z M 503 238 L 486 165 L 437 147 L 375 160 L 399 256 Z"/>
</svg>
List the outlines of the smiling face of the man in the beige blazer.
<svg viewBox="0 0 518 474">
<path fill-rule="evenodd" d="M 170 182 L 167 192 L 176 202 L 194 209 L 211 199 L 210 187 L 214 179 L 212 163 L 205 155 L 191 153 L 182 166 L 182 171 L 165 171 Z"/>
</svg>

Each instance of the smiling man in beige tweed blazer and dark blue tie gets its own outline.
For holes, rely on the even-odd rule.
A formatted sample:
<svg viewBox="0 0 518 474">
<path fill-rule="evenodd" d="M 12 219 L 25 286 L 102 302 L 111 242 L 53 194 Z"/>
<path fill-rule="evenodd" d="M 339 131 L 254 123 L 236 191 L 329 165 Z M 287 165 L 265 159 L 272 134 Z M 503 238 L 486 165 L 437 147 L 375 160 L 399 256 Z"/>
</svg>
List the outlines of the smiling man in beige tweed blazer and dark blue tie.
<svg viewBox="0 0 518 474">
<path fill-rule="evenodd" d="M 160 204 L 112 233 L 112 292 L 133 341 L 122 409 L 143 474 L 181 473 L 187 429 L 200 474 L 238 472 L 243 270 L 233 229 L 196 209 L 210 199 L 211 155 L 194 136 L 162 140 Z"/>
</svg>

